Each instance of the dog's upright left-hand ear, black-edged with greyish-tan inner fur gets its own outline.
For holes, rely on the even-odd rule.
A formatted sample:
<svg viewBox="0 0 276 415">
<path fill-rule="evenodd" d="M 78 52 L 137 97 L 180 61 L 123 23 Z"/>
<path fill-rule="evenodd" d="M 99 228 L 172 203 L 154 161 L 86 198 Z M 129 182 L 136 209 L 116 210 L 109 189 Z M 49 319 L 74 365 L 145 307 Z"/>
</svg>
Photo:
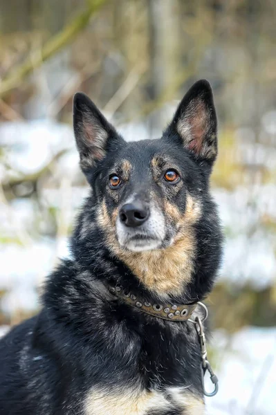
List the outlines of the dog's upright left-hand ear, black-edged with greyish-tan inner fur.
<svg viewBox="0 0 276 415">
<path fill-rule="evenodd" d="M 80 167 L 84 174 L 102 160 L 111 147 L 123 142 L 116 129 L 84 93 L 76 93 L 73 100 L 73 127 Z"/>
</svg>

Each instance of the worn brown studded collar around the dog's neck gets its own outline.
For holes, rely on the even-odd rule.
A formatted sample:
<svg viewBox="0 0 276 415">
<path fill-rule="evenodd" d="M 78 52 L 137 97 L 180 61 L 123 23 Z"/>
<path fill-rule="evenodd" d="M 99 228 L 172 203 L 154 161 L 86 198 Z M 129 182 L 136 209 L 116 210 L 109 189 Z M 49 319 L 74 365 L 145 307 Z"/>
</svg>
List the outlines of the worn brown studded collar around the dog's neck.
<svg viewBox="0 0 276 415">
<path fill-rule="evenodd" d="M 127 293 L 123 290 L 122 286 L 118 285 L 116 287 L 109 286 L 109 291 L 113 295 L 116 295 L 116 297 L 122 299 L 125 303 L 129 304 L 129 306 L 137 308 L 143 313 L 172 322 L 185 322 L 189 320 L 198 304 L 197 302 L 192 304 L 151 304 L 134 294 Z"/>
</svg>

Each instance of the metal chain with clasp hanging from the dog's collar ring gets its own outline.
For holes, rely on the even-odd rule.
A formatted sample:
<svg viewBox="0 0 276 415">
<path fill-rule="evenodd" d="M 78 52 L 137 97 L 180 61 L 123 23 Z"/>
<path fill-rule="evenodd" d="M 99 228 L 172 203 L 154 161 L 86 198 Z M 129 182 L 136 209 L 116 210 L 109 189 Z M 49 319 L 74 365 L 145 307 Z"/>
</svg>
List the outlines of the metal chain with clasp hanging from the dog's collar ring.
<svg viewBox="0 0 276 415">
<path fill-rule="evenodd" d="M 214 374 L 214 371 L 210 365 L 210 362 L 207 359 L 207 349 L 206 349 L 206 341 L 205 341 L 205 333 L 203 329 L 202 322 L 207 319 L 208 317 L 208 308 L 205 306 L 205 304 L 199 302 L 199 306 L 203 308 L 205 311 L 205 315 L 203 319 L 201 320 L 199 317 L 196 317 L 194 320 L 189 319 L 189 322 L 192 322 L 196 326 L 196 332 L 199 336 L 199 343 L 201 345 L 201 379 L 202 379 L 202 386 L 203 386 L 203 394 L 205 396 L 214 396 L 217 394 L 217 391 L 219 390 L 219 379 Z M 206 371 L 210 374 L 211 382 L 214 384 L 214 391 L 208 392 L 205 389 L 205 382 L 204 382 L 204 376 Z"/>
</svg>

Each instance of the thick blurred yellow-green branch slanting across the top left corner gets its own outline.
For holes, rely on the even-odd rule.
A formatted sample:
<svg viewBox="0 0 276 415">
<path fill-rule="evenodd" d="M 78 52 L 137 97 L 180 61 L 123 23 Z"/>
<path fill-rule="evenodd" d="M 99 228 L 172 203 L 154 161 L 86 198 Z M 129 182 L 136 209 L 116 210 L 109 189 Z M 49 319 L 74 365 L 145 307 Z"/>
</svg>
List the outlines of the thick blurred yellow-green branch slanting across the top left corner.
<svg viewBox="0 0 276 415">
<path fill-rule="evenodd" d="M 98 11 L 106 0 L 89 1 L 89 6 L 85 12 L 77 16 L 75 20 L 68 24 L 61 32 L 53 36 L 44 44 L 42 50 L 36 50 L 30 57 L 28 56 L 23 64 L 15 68 L 12 73 L 0 84 L 0 97 L 4 97 L 12 89 L 15 89 L 24 78 L 42 62 L 54 55 L 59 49 L 64 48 L 75 36 L 89 23 L 90 17 Z"/>
</svg>

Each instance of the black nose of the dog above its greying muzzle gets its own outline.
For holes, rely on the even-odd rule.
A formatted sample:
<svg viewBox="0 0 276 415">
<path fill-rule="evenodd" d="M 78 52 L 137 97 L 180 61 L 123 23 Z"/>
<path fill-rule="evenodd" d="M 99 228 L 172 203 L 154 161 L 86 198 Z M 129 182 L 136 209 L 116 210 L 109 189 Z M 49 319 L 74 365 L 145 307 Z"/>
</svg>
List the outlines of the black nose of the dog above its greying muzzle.
<svg viewBox="0 0 276 415">
<path fill-rule="evenodd" d="M 140 226 L 147 221 L 149 210 L 140 202 L 126 203 L 120 210 L 120 221 L 126 226 Z"/>
</svg>

